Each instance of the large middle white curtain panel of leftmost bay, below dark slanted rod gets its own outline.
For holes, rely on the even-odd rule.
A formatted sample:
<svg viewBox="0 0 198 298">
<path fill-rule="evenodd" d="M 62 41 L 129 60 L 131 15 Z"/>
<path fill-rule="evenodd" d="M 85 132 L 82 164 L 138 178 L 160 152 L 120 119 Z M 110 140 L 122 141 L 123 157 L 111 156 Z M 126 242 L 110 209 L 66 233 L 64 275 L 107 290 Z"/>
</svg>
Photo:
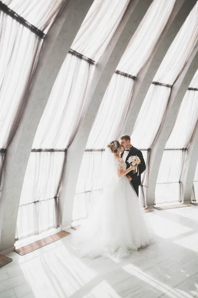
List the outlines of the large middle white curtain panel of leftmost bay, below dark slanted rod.
<svg viewBox="0 0 198 298">
<path fill-rule="evenodd" d="M 43 40 L 2 12 L 0 24 L 0 148 L 6 148 L 19 121 Z"/>
</svg>

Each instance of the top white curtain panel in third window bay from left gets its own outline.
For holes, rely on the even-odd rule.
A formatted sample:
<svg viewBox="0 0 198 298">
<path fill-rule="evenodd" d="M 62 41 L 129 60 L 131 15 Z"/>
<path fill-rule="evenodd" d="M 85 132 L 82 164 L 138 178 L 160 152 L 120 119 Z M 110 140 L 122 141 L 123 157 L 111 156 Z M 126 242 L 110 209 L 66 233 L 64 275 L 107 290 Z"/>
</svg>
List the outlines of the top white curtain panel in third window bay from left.
<svg viewBox="0 0 198 298">
<path fill-rule="evenodd" d="M 119 71 L 135 76 L 139 74 L 151 56 L 175 2 L 153 0 L 118 64 Z"/>
</svg>

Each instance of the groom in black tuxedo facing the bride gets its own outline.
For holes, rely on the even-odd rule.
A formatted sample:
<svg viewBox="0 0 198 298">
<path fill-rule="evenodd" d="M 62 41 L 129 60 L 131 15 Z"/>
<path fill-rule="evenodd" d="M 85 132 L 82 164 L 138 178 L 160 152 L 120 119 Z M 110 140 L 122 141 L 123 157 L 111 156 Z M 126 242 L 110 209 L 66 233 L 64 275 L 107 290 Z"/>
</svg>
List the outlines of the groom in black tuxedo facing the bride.
<svg viewBox="0 0 198 298">
<path fill-rule="evenodd" d="M 120 145 L 122 147 L 120 157 L 122 157 L 123 160 L 126 162 L 127 169 L 130 167 L 130 164 L 127 161 L 130 156 L 137 155 L 141 160 L 141 163 L 138 166 L 139 167 L 139 175 L 138 175 L 138 172 L 133 174 L 132 171 L 127 174 L 129 181 L 133 185 L 133 188 L 138 196 L 139 195 L 139 185 L 141 185 L 141 174 L 146 169 L 146 164 L 145 164 L 143 154 L 139 149 L 137 149 L 131 145 L 131 138 L 128 135 L 122 135 L 120 137 Z"/>
</svg>

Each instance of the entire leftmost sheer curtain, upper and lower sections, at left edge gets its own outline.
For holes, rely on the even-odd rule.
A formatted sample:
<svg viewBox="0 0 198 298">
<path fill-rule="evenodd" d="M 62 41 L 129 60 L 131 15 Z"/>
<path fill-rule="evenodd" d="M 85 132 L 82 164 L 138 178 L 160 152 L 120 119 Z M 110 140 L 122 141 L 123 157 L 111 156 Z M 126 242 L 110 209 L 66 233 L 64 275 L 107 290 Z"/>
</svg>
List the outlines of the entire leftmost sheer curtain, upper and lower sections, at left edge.
<svg viewBox="0 0 198 298">
<path fill-rule="evenodd" d="M 53 0 L 48 3 L 43 1 L 45 5 L 39 10 L 36 3 L 39 1 L 34 1 L 31 11 L 27 2 L 23 3 L 22 10 L 18 9 L 19 2 L 16 0 L 3 1 L 0 6 L 0 187 L 3 183 L 6 149 L 20 120 L 43 45 L 40 35 L 45 37 L 42 30 L 47 33 L 53 21 L 48 17 L 48 11 L 52 8 L 51 15 L 57 15 L 63 1 L 57 1 L 56 5 L 52 5 Z M 15 8 L 16 11 L 10 10 Z M 27 21 L 19 13 L 28 17 L 32 11 L 37 19 L 34 24 L 28 23 L 25 26 Z"/>
</svg>

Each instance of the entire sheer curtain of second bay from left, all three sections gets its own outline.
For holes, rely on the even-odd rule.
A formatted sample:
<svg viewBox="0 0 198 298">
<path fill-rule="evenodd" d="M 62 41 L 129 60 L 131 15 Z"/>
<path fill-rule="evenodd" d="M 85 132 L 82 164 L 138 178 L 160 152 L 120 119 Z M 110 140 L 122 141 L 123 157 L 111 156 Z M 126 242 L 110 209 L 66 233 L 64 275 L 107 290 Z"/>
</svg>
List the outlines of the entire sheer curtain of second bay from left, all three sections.
<svg viewBox="0 0 198 298">
<path fill-rule="evenodd" d="M 97 61 L 115 33 L 128 3 L 129 0 L 93 2 L 57 75 L 25 174 L 17 221 L 19 238 L 58 226 L 58 193 L 66 149 L 72 143 L 89 103 L 87 94 Z M 30 188 L 34 188 L 31 194 Z M 47 210 L 51 213 L 46 215 L 47 223 L 41 222 L 43 208 L 48 204 Z M 36 209 L 35 205 L 39 207 Z M 36 216 L 28 222 L 28 216 L 23 217 L 23 214 L 31 216 L 35 209 Z"/>
</svg>

